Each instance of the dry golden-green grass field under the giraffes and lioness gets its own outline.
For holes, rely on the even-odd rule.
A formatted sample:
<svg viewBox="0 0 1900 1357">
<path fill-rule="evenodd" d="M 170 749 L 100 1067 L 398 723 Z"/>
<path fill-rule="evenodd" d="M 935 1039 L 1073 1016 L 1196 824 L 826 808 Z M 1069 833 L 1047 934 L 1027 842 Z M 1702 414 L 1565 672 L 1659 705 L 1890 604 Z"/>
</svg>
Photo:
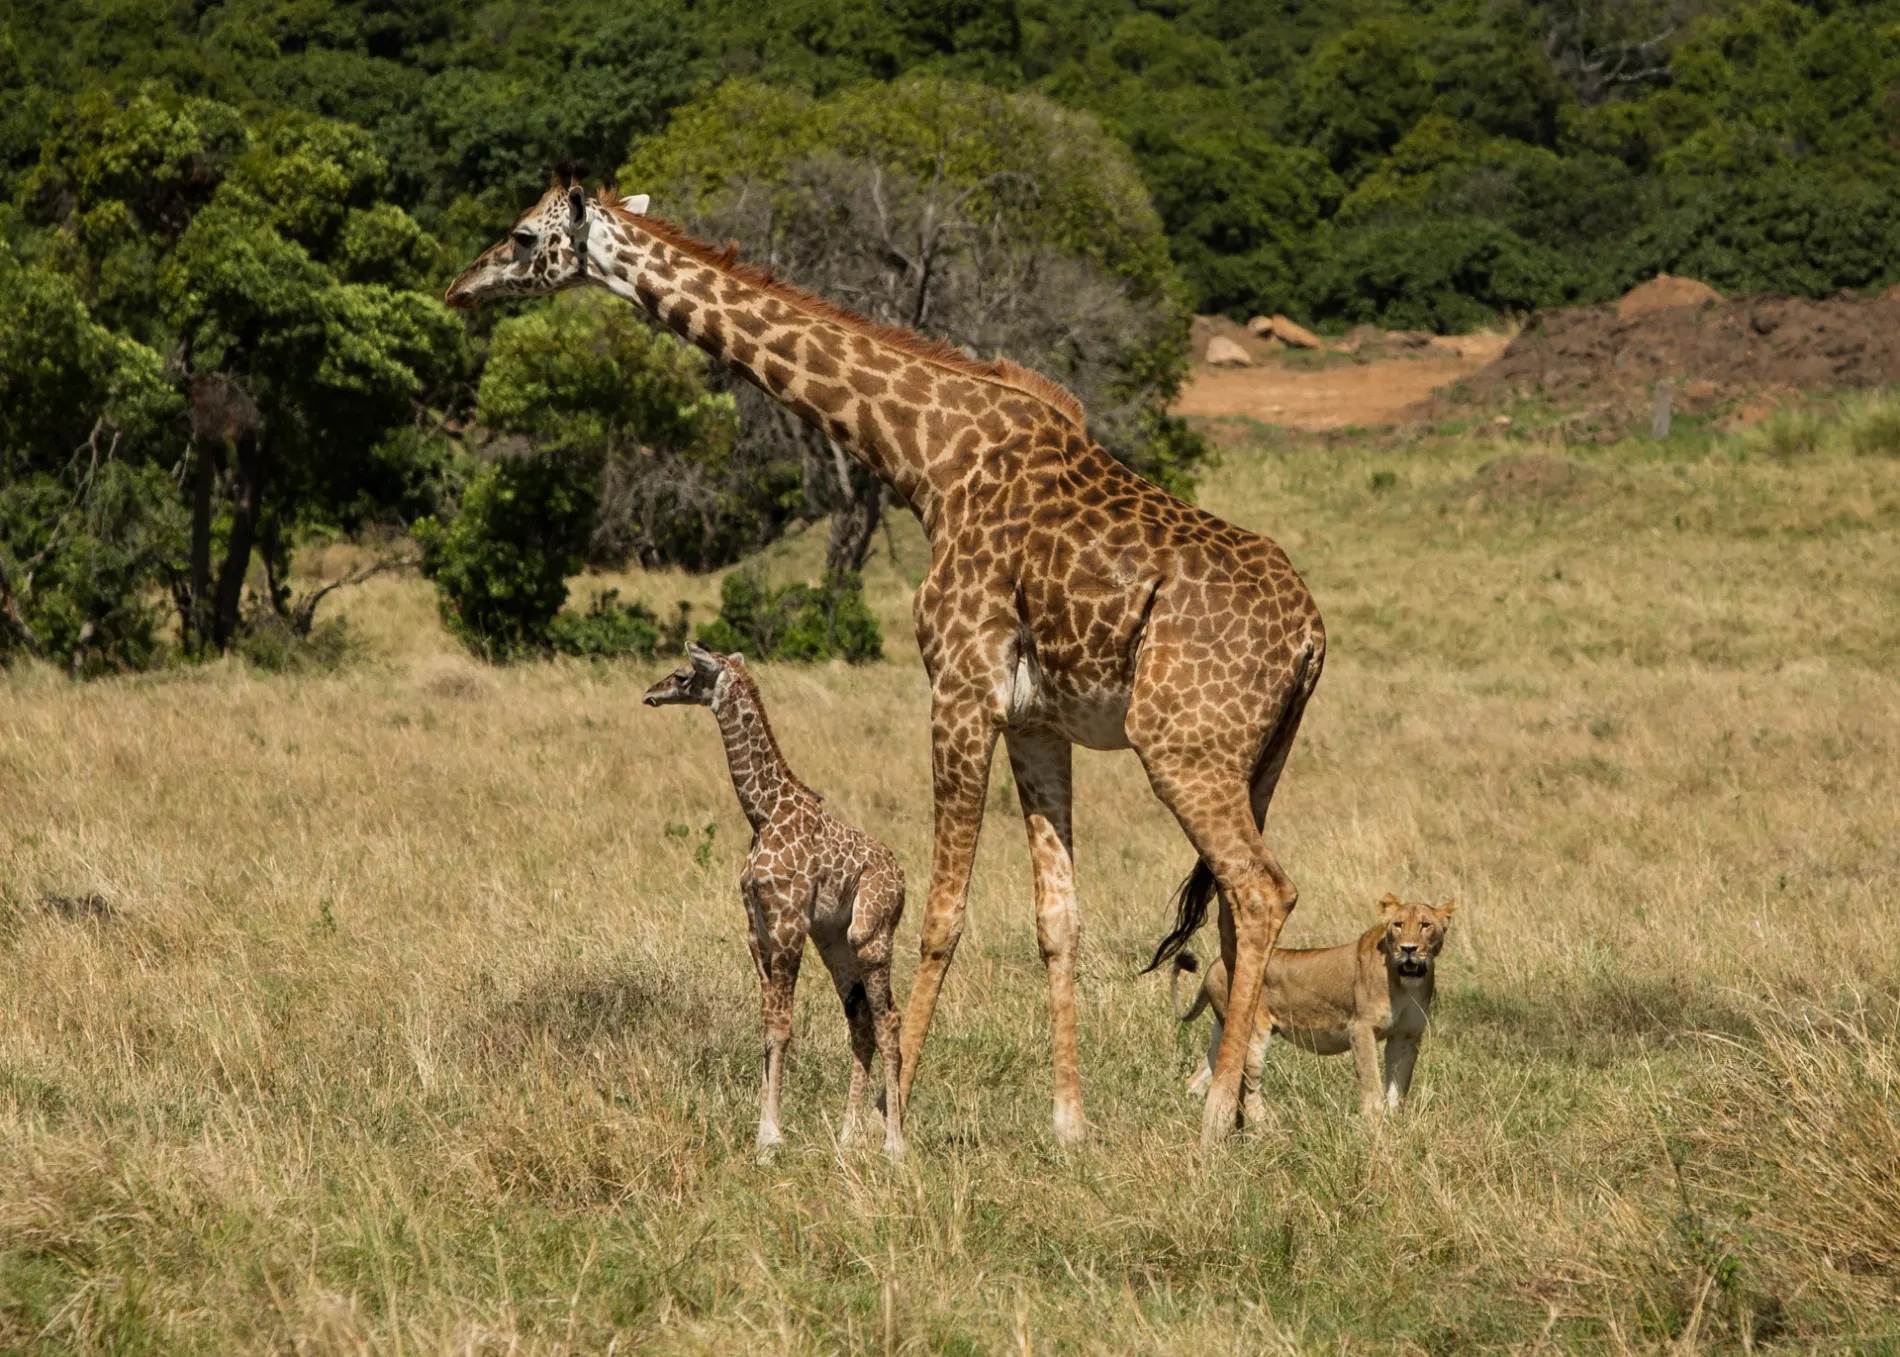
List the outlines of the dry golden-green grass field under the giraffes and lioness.
<svg viewBox="0 0 1900 1357">
<path fill-rule="evenodd" d="M 1805 418 L 1805 416 L 1803 416 Z M 1881 422 L 1885 418 L 1885 424 Z M 1189 850 L 1077 756 L 1092 1135 L 1049 1133 L 1007 762 L 910 1159 L 840 1152 L 806 965 L 750 1157 L 747 827 L 648 665 L 469 659 L 342 591 L 334 673 L 0 680 L 0 1347 L 70 1353 L 1900 1351 L 1900 458 L 1854 405 L 1615 447 L 1222 430 L 1201 502 L 1330 631 L 1267 825 L 1290 945 L 1457 897 L 1414 1102 L 1279 1047 L 1201 1152 L 1205 1028 L 1138 975 Z M 764 561 L 809 578 L 823 526 Z M 304 551 L 306 578 L 352 547 Z M 760 665 L 910 878 L 927 696 Z M 583 578 L 709 616 L 716 580 Z M 1212 933 L 1199 943 L 1206 952 Z"/>
</svg>

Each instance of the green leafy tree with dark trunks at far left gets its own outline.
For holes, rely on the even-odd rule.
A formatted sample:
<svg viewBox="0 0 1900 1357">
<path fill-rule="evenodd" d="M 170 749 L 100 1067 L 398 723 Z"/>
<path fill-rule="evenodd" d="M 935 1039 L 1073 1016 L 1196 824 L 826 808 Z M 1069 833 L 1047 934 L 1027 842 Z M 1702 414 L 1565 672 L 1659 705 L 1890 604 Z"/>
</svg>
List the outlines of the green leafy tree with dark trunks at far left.
<svg viewBox="0 0 1900 1357">
<path fill-rule="evenodd" d="M 460 327 L 420 291 L 439 251 L 378 201 L 384 175 L 357 127 L 285 114 L 249 129 L 156 87 L 82 99 L 48 139 L 28 192 L 61 228 L 49 260 L 171 355 L 186 399 L 192 650 L 232 644 L 253 551 L 276 580 L 283 530 L 353 502 L 386 469 L 390 430 L 464 363 Z"/>
</svg>

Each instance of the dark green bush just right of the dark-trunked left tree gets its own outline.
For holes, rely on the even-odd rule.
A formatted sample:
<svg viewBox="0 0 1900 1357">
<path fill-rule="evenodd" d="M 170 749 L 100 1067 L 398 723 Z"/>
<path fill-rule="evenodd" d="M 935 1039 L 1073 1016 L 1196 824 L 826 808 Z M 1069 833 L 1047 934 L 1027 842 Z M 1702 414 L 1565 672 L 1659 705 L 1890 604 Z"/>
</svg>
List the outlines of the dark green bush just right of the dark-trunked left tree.
<svg viewBox="0 0 1900 1357">
<path fill-rule="evenodd" d="M 509 456 L 483 468 L 450 521 L 416 521 L 443 625 L 500 663 L 549 648 L 593 528 L 598 471 L 583 458 Z"/>
</svg>

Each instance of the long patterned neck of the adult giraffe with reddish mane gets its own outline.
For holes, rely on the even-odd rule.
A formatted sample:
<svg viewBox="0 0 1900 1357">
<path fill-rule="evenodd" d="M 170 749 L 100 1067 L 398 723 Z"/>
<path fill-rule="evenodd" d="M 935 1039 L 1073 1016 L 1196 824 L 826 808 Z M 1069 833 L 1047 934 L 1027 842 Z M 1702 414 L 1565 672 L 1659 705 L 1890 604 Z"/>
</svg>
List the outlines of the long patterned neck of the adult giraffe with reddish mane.
<svg viewBox="0 0 1900 1357">
<path fill-rule="evenodd" d="M 705 258 L 648 230 L 648 219 L 597 213 L 589 276 L 705 352 L 726 361 L 798 418 L 868 466 L 933 523 L 946 490 L 931 454 L 958 456 L 977 416 L 948 395 L 978 382 L 773 287 L 730 258 Z M 808 302 L 815 298 L 806 298 Z M 975 409 L 977 401 L 971 399 Z M 967 456 L 967 449 L 961 452 Z"/>
</svg>

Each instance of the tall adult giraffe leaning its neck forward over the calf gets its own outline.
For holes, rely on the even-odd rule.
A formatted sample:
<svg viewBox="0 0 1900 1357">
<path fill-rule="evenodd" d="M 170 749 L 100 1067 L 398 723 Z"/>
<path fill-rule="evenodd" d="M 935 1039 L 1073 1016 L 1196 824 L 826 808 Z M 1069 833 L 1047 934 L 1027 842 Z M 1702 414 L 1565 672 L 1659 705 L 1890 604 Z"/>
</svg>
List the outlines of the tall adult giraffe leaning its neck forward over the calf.
<svg viewBox="0 0 1900 1357">
<path fill-rule="evenodd" d="M 1256 996 L 1298 891 L 1260 836 L 1319 682 L 1326 631 L 1286 555 L 1142 481 L 1089 441 L 1081 405 L 1015 363 L 874 325 L 646 215 L 646 196 L 555 182 L 448 304 L 598 285 L 863 460 L 923 523 L 914 601 L 931 680 L 937 834 L 901 1095 L 963 903 L 996 737 L 1009 745 L 1049 967 L 1054 1131 L 1081 1140 L 1075 1064 L 1072 745 L 1134 749 L 1201 859 L 1155 962 L 1220 889 L 1233 1009 L 1203 1140 L 1233 1129 Z M 1264 1019 L 1265 1015 L 1258 1015 Z"/>
</svg>

